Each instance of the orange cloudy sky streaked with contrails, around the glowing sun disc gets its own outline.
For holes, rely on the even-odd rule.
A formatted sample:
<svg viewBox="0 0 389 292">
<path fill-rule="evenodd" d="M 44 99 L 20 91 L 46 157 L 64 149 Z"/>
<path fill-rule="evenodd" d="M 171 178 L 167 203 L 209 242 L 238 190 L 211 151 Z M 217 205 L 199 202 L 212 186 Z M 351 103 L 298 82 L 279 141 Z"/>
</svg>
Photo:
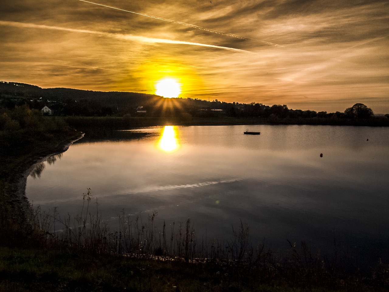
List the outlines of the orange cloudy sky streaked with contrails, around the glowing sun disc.
<svg viewBox="0 0 389 292">
<path fill-rule="evenodd" d="M 389 2 L 2 0 L 0 80 L 389 113 Z"/>
</svg>

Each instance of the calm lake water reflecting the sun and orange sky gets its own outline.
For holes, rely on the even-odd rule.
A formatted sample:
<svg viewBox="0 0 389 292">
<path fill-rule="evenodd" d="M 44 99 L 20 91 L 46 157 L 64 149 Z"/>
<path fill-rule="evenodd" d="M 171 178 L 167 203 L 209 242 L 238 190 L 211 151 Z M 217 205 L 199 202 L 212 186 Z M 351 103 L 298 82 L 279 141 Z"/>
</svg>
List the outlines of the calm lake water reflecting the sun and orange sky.
<svg viewBox="0 0 389 292">
<path fill-rule="evenodd" d="M 91 188 L 112 226 L 122 209 L 166 225 L 190 217 L 198 234 L 287 239 L 337 248 L 361 262 L 389 255 L 389 129 L 340 126 L 156 127 L 88 141 L 88 133 L 30 176 L 27 197 L 61 216 L 81 212 Z M 134 132 L 148 133 L 126 139 Z M 368 141 L 367 141 L 368 139 Z M 320 157 L 320 153 L 323 157 Z"/>
</svg>

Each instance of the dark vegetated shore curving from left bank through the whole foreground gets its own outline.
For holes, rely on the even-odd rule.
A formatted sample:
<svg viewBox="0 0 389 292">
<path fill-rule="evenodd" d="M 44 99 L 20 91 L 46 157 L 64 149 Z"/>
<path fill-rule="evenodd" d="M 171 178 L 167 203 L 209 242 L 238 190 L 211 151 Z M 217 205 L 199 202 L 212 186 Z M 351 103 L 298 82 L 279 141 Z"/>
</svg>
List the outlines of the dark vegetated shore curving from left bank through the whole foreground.
<svg viewBox="0 0 389 292">
<path fill-rule="evenodd" d="M 389 266 L 379 259 L 375 266 L 359 269 L 336 248 L 332 255 L 321 255 L 306 243 L 290 243 L 284 254 L 275 253 L 252 243 L 243 223 L 232 230 L 230 240 L 219 242 L 196 234 L 189 219 L 169 229 L 165 222 L 157 224 L 156 213 L 130 221 L 123 212 L 117 230 L 110 230 L 90 190 L 83 194 L 75 218 L 30 206 L 23 175 L 81 137 L 67 122 L 81 125 L 98 119 L 42 116 L 26 104 L 1 109 L 0 291 L 389 289 Z M 135 118 L 100 119 L 121 123 Z"/>
</svg>

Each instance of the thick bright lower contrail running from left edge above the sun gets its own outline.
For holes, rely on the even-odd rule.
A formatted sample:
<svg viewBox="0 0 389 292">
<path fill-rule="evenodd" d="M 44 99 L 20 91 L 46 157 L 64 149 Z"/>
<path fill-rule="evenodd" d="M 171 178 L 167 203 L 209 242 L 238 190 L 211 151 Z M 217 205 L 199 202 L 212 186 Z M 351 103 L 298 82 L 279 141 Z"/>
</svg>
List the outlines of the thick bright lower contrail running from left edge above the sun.
<svg viewBox="0 0 389 292">
<path fill-rule="evenodd" d="M 123 34 L 115 34 L 115 33 L 107 33 L 107 32 L 97 32 L 95 30 L 80 30 L 80 29 L 65 28 L 65 27 L 60 27 L 60 26 L 37 25 L 35 23 L 23 23 L 23 22 L 1 21 L 0 20 L 0 25 L 22 27 L 22 28 L 42 28 L 42 29 L 49 29 L 49 30 L 61 30 L 61 31 L 67 31 L 67 32 L 89 33 L 89 34 L 101 35 L 104 37 L 113 37 L 113 38 L 117 38 L 117 39 L 136 40 L 139 42 L 150 43 L 150 44 L 183 44 L 183 45 L 190 45 L 190 46 L 213 47 L 216 49 L 224 49 L 224 50 L 229 50 L 229 51 L 251 53 L 250 51 L 245 51 L 242 49 L 235 49 L 233 47 L 214 46 L 214 45 L 209 45 L 209 44 L 201 44 L 198 42 L 185 42 L 185 41 L 181 41 L 181 40 L 155 39 L 155 38 L 142 37 L 142 36 L 137 36 L 137 35 L 123 35 Z"/>
</svg>

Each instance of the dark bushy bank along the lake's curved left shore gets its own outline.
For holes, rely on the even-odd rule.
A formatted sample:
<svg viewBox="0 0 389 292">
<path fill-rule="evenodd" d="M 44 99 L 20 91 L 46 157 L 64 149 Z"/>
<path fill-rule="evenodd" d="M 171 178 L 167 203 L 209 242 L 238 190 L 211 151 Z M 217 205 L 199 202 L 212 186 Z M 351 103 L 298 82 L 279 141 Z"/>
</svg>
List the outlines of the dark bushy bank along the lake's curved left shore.
<svg viewBox="0 0 389 292">
<path fill-rule="evenodd" d="M 44 117 L 27 106 L 0 113 L 0 238 L 17 244 L 28 234 L 26 175 L 33 164 L 81 137 L 59 118 Z"/>
</svg>

